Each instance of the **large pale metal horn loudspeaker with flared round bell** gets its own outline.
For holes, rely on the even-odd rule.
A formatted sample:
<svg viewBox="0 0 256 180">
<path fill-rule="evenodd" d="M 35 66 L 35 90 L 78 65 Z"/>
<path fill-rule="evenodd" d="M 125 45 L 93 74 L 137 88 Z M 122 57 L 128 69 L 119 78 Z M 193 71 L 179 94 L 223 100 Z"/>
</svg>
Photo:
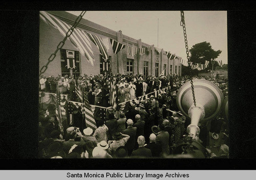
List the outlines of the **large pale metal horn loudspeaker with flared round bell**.
<svg viewBox="0 0 256 180">
<path fill-rule="evenodd" d="M 223 94 L 214 83 L 206 80 L 193 80 L 196 98 L 194 105 L 190 82 L 185 83 L 178 91 L 177 106 L 182 114 L 191 118 L 187 133 L 196 139 L 200 133 L 198 123 L 217 117 L 222 110 Z"/>
</svg>

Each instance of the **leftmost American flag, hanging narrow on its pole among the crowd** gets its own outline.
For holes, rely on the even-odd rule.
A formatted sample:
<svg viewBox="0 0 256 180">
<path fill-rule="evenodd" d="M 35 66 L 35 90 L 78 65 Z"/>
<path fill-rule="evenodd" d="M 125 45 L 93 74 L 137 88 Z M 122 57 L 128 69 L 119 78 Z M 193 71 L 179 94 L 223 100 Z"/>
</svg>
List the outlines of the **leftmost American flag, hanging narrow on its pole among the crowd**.
<svg viewBox="0 0 256 180">
<path fill-rule="evenodd" d="M 56 117 L 59 122 L 59 131 L 63 135 L 63 126 L 62 126 L 62 119 L 67 119 L 66 116 L 66 102 L 67 102 L 67 97 L 65 95 L 62 95 L 62 99 L 60 96 L 59 92 L 59 87 L 57 84 L 57 94 L 56 94 Z"/>
</svg>

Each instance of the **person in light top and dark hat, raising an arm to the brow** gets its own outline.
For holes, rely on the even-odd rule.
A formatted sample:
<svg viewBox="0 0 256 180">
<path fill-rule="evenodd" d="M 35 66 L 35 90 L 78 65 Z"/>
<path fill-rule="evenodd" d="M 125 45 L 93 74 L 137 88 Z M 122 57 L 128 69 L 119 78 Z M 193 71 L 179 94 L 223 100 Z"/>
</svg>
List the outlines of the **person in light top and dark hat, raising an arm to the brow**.
<svg viewBox="0 0 256 180">
<path fill-rule="evenodd" d="M 130 139 L 130 136 L 116 132 L 113 135 L 113 139 L 114 141 L 109 141 L 110 150 L 112 153 L 114 153 L 118 147 L 125 146 L 127 141 Z"/>
</svg>

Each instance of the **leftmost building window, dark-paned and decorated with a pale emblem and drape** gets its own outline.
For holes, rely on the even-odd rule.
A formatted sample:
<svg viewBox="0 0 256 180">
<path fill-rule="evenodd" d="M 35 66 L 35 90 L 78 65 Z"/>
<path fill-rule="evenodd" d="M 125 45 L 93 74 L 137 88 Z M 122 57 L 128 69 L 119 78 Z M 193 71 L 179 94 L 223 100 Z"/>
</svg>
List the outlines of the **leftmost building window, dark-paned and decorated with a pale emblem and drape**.
<svg viewBox="0 0 256 180">
<path fill-rule="evenodd" d="M 80 75 L 79 52 L 75 50 L 60 49 L 61 76 Z"/>
</svg>

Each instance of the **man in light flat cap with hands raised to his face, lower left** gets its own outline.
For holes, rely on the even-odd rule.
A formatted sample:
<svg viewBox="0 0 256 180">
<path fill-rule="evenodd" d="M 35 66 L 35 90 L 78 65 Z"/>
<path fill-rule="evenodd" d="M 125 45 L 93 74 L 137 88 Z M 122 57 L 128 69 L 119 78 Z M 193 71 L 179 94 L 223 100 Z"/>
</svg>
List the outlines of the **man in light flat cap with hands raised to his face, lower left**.
<svg viewBox="0 0 256 180">
<path fill-rule="evenodd" d="M 86 146 L 86 142 L 84 142 L 84 140 L 82 138 L 80 139 L 80 141 L 75 141 L 77 135 L 81 134 L 81 132 L 79 131 L 78 128 L 75 128 L 73 126 L 72 127 L 68 127 L 67 128 L 67 133 L 68 133 L 68 136 L 69 136 L 69 140 L 63 142 L 63 150 L 67 154 L 69 153 L 70 148 L 74 144 L 76 144 L 78 147 L 81 147 L 81 149 Z M 81 151 L 81 153 L 82 153 L 82 151 Z"/>
</svg>

